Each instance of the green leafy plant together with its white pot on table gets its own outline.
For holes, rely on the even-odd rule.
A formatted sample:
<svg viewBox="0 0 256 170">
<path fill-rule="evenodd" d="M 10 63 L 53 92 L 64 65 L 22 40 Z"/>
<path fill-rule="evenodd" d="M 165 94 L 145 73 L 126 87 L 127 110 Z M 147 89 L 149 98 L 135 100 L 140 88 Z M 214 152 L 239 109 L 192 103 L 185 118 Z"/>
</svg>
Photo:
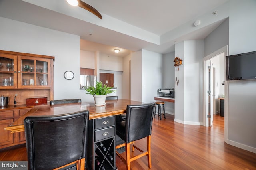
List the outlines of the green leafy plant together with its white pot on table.
<svg viewBox="0 0 256 170">
<path fill-rule="evenodd" d="M 87 91 L 86 94 L 93 95 L 95 106 L 104 106 L 106 105 L 106 96 L 107 94 L 113 93 L 116 90 L 111 90 L 112 87 L 108 87 L 106 84 L 102 84 L 101 81 L 96 81 L 96 85 L 89 86 L 88 89 L 85 89 Z"/>
</svg>

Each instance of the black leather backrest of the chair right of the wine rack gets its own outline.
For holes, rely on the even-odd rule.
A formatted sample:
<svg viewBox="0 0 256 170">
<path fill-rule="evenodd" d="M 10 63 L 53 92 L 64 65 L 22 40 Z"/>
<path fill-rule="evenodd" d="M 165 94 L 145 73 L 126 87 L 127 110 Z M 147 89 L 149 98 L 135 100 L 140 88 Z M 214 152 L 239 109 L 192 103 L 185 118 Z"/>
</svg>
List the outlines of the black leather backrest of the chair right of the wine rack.
<svg viewBox="0 0 256 170">
<path fill-rule="evenodd" d="M 126 143 L 151 135 L 154 105 L 155 103 L 127 106 L 125 119 Z"/>
</svg>

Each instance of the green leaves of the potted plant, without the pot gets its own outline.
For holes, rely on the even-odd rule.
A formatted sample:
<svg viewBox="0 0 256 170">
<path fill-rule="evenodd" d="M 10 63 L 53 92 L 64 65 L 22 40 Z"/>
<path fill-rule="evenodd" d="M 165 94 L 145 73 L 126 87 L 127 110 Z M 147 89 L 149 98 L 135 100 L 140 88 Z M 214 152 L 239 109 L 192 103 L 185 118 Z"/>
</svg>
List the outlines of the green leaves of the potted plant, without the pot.
<svg viewBox="0 0 256 170">
<path fill-rule="evenodd" d="M 116 90 L 111 90 L 112 87 L 108 87 L 106 84 L 102 84 L 100 81 L 96 81 L 96 86 L 89 86 L 88 89 L 85 89 L 87 91 L 86 94 L 90 95 L 107 95 L 109 93 L 112 93 Z"/>
</svg>

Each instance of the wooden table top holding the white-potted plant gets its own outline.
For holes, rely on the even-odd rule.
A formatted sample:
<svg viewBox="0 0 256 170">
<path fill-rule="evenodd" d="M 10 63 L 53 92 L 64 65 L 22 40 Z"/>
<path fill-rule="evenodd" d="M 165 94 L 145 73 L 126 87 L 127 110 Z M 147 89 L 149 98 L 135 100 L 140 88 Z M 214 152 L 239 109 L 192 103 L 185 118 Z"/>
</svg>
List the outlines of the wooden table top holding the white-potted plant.
<svg viewBox="0 0 256 170">
<path fill-rule="evenodd" d="M 22 115 L 19 119 L 11 123 L 5 130 L 13 132 L 24 131 L 24 119 L 27 116 L 49 116 L 49 115 L 62 115 L 68 113 L 74 113 L 83 110 L 89 110 L 89 119 L 96 119 L 102 117 L 108 117 L 113 115 L 119 115 L 126 113 L 127 105 L 139 105 L 143 104 L 139 101 L 131 101 L 127 99 L 118 99 L 106 101 L 106 106 L 95 106 L 94 102 L 90 103 L 72 103 L 62 105 L 38 105 L 33 107 L 26 114 Z"/>
</svg>

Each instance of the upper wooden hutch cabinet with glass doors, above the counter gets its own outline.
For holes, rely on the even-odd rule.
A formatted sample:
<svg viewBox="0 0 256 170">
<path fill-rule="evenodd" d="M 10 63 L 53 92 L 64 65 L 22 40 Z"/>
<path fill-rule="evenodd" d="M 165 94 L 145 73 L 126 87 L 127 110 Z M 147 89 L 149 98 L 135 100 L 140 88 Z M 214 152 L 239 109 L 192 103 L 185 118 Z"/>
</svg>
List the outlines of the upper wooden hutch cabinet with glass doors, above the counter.
<svg viewBox="0 0 256 170">
<path fill-rule="evenodd" d="M 10 97 L 13 104 L 25 104 L 26 98 L 54 99 L 53 63 L 55 57 L 0 50 L 1 94 Z M 33 89 L 33 90 L 31 90 Z"/>
</svg>

